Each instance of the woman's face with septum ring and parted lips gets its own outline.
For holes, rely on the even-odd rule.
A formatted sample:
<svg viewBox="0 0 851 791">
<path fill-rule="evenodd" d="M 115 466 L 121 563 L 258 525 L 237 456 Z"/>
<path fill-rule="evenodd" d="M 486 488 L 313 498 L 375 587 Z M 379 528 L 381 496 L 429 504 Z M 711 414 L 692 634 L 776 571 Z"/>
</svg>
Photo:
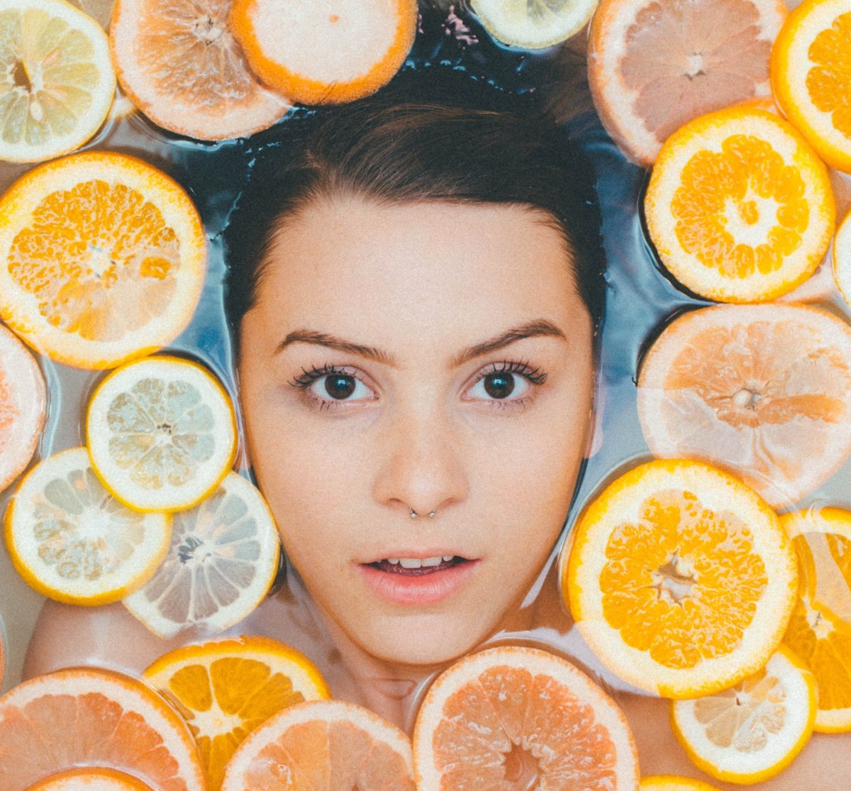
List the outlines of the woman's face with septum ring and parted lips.
<svg viewBox="0 0 851 791">
<path fill-rule="evenodd" d="M 391 662 L 488 637 L 589 431 L 591 320 L 544 215 L 317 199 L 278 229 L 240 355 L 254 472 L 325 616 Z"/>
</svg>

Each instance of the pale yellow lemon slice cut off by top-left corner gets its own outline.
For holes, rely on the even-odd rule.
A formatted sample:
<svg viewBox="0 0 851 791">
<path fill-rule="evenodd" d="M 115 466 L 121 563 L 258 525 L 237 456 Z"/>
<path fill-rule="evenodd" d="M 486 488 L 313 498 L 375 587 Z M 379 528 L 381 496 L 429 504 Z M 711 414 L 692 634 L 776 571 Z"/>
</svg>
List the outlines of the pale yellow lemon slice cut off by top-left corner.
<svg viewBox="0 0 851 791">
<path fill-rule="evenodd" d="M 60 0 L 0 10 L 0 159 L 41 162 L 100 129 L 115 95 L 103 28 Z"/>
</svg>

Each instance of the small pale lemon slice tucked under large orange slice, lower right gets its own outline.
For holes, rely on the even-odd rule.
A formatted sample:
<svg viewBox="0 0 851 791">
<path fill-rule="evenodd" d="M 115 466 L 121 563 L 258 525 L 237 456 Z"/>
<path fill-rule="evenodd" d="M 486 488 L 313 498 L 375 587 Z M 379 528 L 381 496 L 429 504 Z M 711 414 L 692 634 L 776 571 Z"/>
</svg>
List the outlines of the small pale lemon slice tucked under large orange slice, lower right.
<svg viewBox="0 0 851 791">
<path fill-rule="evenodd" d="M 740 684 L 671 701 L 671 727 L 694 765 L 727 782 L 762 782 L 790 765 L 813 733 L 815 679 L 780 648 Z"/>
</svg>

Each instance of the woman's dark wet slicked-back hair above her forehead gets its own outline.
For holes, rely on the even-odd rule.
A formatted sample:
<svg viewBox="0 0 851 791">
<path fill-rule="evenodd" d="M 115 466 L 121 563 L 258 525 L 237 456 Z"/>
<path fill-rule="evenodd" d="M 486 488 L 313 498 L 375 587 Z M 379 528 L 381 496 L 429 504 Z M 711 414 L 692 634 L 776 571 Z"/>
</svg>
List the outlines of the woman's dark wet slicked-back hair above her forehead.
<svg viewBox="0 0 851 791">
<path fill-rule="evenodd" d="M 317 198 L 379 204 L 508 203 L 563 235 L 595 330 L 605 259 L 591 163 L 531 96 L 454 72 L 411 72 L 364 100 L 302 111 L 254 139 L 248 185 L 224 232 L 225 307 L 237 337 L 257 301 L 275 232 Z M 465 237 L 469 234 L 469 237 Z M 447 244 L 476 229 L 448 229 Z"/>
</svg>

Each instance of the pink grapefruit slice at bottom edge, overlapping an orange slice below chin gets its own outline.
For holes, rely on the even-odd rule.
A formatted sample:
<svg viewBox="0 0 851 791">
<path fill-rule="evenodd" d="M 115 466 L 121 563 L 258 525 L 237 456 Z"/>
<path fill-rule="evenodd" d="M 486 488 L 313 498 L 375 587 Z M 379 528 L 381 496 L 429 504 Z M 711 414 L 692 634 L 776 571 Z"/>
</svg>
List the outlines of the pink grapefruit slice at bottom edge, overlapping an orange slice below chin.
<svg viewBox="0 0 851 791">
<path fill-rule="evenodd" d="M 414 791 L 411 742 L 353 703 L 299 703 L 266 720 L 237 748 L 222 789 L 245 788 Z"/>
</svg>

